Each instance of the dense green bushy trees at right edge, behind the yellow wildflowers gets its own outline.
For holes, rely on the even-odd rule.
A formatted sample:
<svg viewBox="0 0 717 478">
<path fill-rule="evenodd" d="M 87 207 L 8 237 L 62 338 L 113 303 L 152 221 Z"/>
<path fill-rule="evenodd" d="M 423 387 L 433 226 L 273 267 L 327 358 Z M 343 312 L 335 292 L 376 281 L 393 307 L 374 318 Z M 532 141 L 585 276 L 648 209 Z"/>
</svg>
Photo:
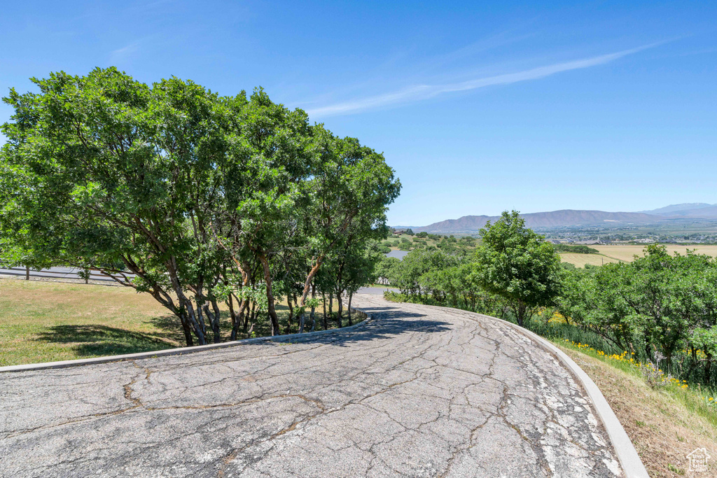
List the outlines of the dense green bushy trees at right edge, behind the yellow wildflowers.
<svg viewBox="0 0 717 478">
<path fill-rule="evenodd" d="M 680 351 L 706 376 L 717 353 L 717 262 L 701 254 L 670 255 L 650 245 L 630 263 L 575 269 L 565 274 L 556 301 L 569 320 L 622 350 L 642 348 L 669 366 Z"/>
</svg>

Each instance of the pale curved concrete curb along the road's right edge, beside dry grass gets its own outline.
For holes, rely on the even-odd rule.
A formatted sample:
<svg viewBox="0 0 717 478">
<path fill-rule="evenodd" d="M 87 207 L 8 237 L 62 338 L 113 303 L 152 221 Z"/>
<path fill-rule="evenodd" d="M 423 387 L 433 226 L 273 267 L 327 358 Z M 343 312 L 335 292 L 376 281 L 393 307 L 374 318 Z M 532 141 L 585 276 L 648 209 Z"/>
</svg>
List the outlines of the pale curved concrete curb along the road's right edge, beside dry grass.
<svg viewBox="0 0 717 478">
<path fill-rule="evenodd" d="M 490 317 L 490 315 L 486 315 L 486 317 Z M 602 421 L 602 424 L 607 431 L 607 435 L 612 442 L 612 447 L 615 450 L 615 454 L 617 454 L 617 459 L 619 460 L 620 465 L 622 465 L 622 471 L 625 472 L 625 476 L 627 478 L 650 478 L 650 475 L 647 474 L 647 469 L 645 469 L 645 465 L 642 464 L 640 455 L 637 454 L 635 446 L 632 445 L 630 436 L 627 436 L 627 432 L 624 428 L 622 428 L 622 424 L 620 424 L 620 421 L 617 419 L 617 416 L 615 416 L 614 411 L 612 411 L 609 403 L 607 403 L 607 400 L 605 400 L 605 397 L 602 395 L 602 392 L 597 385 L 595 385 L 595 382 L 592 381 L 592 378 L 590 378 L 587 373 L 585 373 L 583 369 L 580 368 L 580 366 L 576 364 L 566 353 L 550 343 L 548 340 L 542 338 L 540 335 L 532 333 L 530 330 L 522 328 L 520 325 L 514 324 L 513 322 L 508 322 L 507 320 L 498 319 L 496 317 L 490 318 L 503 322 L 506 325 L 510 325 L 514 330 L 535 340 L 549 353 L 556 355 L 565 368 L 567 368 L 573 376 L 578 379 L 590 397 L 590 400 L 595 407 L 597 416 L 600 421 Z"/>
</svg>

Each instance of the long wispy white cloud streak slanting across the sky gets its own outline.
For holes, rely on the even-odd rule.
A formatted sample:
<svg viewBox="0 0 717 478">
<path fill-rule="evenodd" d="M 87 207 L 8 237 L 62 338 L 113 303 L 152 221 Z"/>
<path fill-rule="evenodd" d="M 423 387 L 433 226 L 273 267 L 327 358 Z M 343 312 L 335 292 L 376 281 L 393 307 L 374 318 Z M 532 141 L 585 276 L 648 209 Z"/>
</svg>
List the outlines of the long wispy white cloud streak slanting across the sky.
<svg viewBox="0 0 717 478">
<path fill-rule="evenodd" d="M 306 113 L 314 118 L 325 118 L 327 116 L 349 115 L 351 113 L 360 113 L 366 110 L 372 110 L 379 107 L 389 105 L 407 104 L 409 102 L 417 102 L 427 100 L 438 95 L 450 92 L 460 92 L 468 90 L 477 90 L 492 85 L 509 85 L 528 80 L 538 80 L 540 78 L 549 77 L 560 72 L 570 70 L 581 70 L 583 68 L 594 67 L 599 64 L 613 62 L 616 59 L 626 57 L 629 54 L 640 52 L 644 49 L 657 46 L 660 43 L 643 45 L 642 47 L 622 50 L 609 54 L 602 54 L 597 57 L 589 57 L 577 59 L 571 62 L 549 64 L 542 67 L 531 68 L 514 73 L 505 73 L 503 75 L 495 75 L 490 77 L 480 77 L 473 80 L 467 80 L 455 83 L 445 83 L 442 85 L 414 85 L 406 87 L 382 95 L 369 96 L 350 100 L 346 102 L 337 102 L 330 105 L 315 107 L 306 110 Z"/>
</svg>

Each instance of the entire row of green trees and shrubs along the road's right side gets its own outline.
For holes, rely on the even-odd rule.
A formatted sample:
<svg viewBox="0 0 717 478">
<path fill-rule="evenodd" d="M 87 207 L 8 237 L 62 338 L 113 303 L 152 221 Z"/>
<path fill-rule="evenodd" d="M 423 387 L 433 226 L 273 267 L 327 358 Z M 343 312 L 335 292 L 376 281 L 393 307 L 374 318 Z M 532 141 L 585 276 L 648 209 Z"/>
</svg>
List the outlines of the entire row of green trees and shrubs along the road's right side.
<svg viewBox="0 0 717 478">
<path fill-rule="evenodd" d="M 529 328 L 539 311 L 558 310 L 569 325 L 668 368 L 680 354 L 713 382 L 717 259 L 705 255 L 670 255 L 653 245 L 634 262 L 576 269 L 561 264 L 553 245 L 513 211 L 481 231 L 473 253 L 418 249 L 402 261 L 384 259 L 378 274 L 399 288 L 399 299 L 513 318 Z"/>
</svg>

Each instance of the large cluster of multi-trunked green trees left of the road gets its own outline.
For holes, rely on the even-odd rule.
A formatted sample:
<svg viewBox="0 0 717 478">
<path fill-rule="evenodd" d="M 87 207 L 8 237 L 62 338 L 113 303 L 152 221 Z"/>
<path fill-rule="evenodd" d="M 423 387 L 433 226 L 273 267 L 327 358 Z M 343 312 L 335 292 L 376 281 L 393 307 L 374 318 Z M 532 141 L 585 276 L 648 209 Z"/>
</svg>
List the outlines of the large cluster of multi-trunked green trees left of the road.
<svg viewBox="0 0 717 478">
<path fill-rule="evenodd" d="M 114 68 L 33 81 L 4 98 L 2 261 L 100 269 L 174 313 L 187 345 L 221 340 L 222 303 L 232 340 L 257 310 L 276 335 L 277 297 L 303 331 L 317 294 L 341 315 L 342 293 L 369 282 L 400 183 L 359 140 L 260 89 L 223 97 Z"/>
</svg>

